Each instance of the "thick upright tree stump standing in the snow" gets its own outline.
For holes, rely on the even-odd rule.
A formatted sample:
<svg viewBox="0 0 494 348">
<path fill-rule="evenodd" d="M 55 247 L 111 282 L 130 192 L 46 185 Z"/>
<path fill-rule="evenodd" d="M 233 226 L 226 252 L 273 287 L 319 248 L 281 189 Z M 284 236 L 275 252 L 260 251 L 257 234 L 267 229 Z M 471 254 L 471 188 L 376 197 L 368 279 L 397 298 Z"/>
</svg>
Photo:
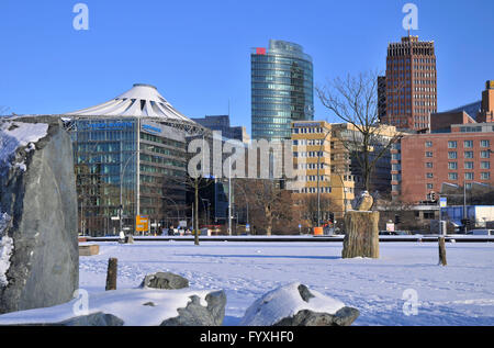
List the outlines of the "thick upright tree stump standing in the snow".
<svg viewBox="0 0 494 348">
<path fill-rule="evenodd" d="M 343 258 L 379 258 L 379 212 L 349 211 L 345 214 Z"/>
</svg>

